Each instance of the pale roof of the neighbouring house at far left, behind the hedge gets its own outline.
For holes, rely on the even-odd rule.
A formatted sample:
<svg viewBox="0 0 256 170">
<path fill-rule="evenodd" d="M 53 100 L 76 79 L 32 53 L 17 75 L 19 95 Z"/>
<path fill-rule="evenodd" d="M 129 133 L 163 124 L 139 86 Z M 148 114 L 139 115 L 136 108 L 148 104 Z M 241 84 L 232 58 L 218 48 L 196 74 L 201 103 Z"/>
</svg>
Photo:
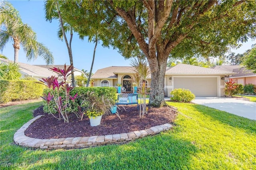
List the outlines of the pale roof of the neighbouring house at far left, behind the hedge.
<svg viewBox="0 0 256 170">
<path fill-rule="evenodd" d="M 13 62 L 11 60 L 0 59 L 1 62 L 8 63 Z M 58 76 L 55 72 L 50 71 L 48 68 L 43 68 L 35 65 L 18 63 L 20 65 L 20 72 L 25 75 L 38 76 L 38 77 L 49 77 Z"/>
</svg>

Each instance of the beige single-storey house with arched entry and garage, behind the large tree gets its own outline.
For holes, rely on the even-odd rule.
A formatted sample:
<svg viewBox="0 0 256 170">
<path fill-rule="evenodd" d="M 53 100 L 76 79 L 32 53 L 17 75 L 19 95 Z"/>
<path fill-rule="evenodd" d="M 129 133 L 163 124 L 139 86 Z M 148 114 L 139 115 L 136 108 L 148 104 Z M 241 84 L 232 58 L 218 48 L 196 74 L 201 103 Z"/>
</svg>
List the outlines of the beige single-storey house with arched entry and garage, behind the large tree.
<svg viewBox="0 0 256 170">
<path fill-rule="evenodd" d="M 94 86 L 110 86 L 117 88 L 121 83 L 126 92 L 133 92 L 131 66 L 111 66 L 97 70 L 92 76 Z M 215 70 L 200 66 L 177 64 L 167 67 L 164 77 L 164 95 L 170 97 L 170 92 L 176 88 L 191 90 L 196 96 L 224 96 L 224 77 L 234 74 L 227 70 Z M 150 88 L 151 76 L 146 78 Z"/>
</svg>

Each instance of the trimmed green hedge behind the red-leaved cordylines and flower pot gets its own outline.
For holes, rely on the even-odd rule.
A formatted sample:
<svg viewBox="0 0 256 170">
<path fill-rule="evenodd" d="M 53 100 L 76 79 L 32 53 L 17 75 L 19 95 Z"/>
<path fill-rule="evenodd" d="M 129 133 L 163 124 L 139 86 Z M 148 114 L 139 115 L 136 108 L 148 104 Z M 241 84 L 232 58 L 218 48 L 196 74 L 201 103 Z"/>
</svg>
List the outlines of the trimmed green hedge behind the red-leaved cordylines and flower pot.
<svg viewBox="0 0 256 170">
<path fill-rule="evenodd" d="M 50 89 L 47 88 L 44 90 L 44 94 L 48 94 L 48 92 L 50 92 Z M 73 111 L 78 111 L 78 106 L 80 106 L 81 104 L 87 105 L 88 103 L 83 102 L 83 98 L 81 98 L 80 96 L 86 96 L 91 92 L 94 92 L 94 94 L 98 96 L 104 96 L 104 98 L 108 99 L 112 104 L 115 103 L 116 88 L 114 87 L 75 87 L 73 90 L 70 91 L 70 96 L 74 96 L 77 93 L 78 97 L 74 100 L 74 107 L 71 107 L 70 110 L 67 111 L 71 111 L 71 109 Z M 60 91 L 60 96 L 64 98 L 64 91 Z M 47 102 L 44 101 L 44 111 L 46 113 L 57 113 L 57 110 L 54 108 L 54 105 L 54 101 L 50 102 L 50 107 L 48 106 Z"/>
</svg>

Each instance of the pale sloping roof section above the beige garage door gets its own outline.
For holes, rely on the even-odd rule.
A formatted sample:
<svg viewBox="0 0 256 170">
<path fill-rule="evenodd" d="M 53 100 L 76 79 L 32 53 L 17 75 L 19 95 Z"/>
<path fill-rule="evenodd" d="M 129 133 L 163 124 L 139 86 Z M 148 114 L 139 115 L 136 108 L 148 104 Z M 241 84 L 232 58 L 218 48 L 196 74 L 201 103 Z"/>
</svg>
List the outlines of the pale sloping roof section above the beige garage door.
<svg viewBox="0 0 256 170">
<path fill-rule="evenodd" d="M 234 74 L 234 72 L 180 63 L 180 64 L 177 64 L 176 66 L 166 68 L 165 74 L 169 74 L 169 75 L 170 74 L 171 75 L 175 75 L 175 74 L 186 74 L 186 75 L 228 74 L 229 75 L 229 74 Z"/>
</svg>

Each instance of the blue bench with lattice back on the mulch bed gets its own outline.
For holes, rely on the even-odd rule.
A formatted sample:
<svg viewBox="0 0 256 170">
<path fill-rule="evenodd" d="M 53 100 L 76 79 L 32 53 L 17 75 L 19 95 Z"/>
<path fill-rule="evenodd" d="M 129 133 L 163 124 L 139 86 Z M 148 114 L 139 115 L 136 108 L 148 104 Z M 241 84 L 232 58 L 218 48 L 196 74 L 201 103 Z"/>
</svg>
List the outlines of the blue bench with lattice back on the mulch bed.
<svg viewBox="0 0 256 170">
<path fill-rule="evenodd" d="M 139 104 L 138 104 L 138 94 L 135 93 L 126 93 L 126 94 L 118 94 L 116 105 L 128 105 L 128 104 L 137 104 L 138 110 L 139 110 Z"/>
</svg>

